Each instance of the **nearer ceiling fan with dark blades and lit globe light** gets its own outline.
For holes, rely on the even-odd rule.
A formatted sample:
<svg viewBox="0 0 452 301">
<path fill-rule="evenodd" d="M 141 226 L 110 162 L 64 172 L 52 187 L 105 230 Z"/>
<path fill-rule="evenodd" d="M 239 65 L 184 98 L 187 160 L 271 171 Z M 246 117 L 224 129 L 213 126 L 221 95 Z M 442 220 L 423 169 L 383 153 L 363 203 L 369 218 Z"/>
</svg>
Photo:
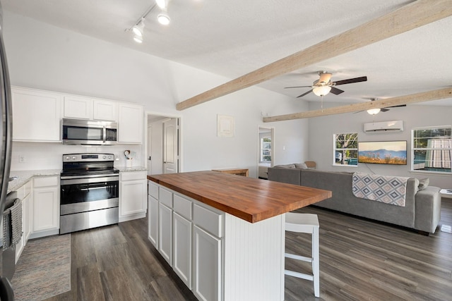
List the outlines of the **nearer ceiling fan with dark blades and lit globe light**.
<svg viewBox="0 0 452 301">
<path fill-rule="evenodd" d="M 354 82 L 365 82 L 367 81 L 367 76 L 362 76 L 360 78 L 349 78 L 348 80 L 338 80 L 337 82 L 331 81 L 331 73 L 327 73 L 326 71 L 319 71 L 319 80 L 316 80 L 313 82 L 310 86 L 297 86 L 297 87 L 285 87 L 285 89 L 292 89 L 292 88 L 304 88 L 304 87 L 310 87 L 311 90 L 308 92 L 304 92 L 303 94 L 297 96 L 304 97 L 304 95 L 307 95 L 311 92 L 314 92 L 317 96 L 325 96 L 329 92 L 338 95 L 340 93 L 343 93 L 343 90 L 340 90 L 336 88 L 335 86 L 338 85 L 346 85 L 346 84 L 352 84 Z"/>
</svg>

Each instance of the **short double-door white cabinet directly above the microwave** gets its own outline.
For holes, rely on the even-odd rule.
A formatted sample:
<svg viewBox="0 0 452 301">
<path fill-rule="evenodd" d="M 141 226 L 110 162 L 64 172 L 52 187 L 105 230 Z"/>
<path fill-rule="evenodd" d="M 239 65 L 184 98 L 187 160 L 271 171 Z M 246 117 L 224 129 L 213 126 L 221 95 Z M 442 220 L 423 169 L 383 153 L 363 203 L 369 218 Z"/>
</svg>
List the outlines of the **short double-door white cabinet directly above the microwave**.
<svg viewBox="0 0 452 301">
<path fill-rule="evenodd" d="M 69 95 L 64 97 L 64 117 L 88 120 L 117 121 L 117 103 Z"/>
</svg>

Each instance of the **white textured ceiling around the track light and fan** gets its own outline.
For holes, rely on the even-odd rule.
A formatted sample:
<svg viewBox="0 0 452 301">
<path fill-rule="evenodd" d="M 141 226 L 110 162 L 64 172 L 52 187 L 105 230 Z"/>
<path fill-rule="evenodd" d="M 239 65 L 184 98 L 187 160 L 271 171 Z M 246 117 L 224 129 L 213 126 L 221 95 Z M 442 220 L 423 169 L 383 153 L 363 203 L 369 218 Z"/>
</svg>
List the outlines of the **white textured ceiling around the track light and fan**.
<svg viewBox="0 0 452 301">
<path fill-rule="evenodd" d="M 412 1 L 391 0 L 171 0 L 172 22 L 157 23 L 159 8 L 145 19 L 143 44 L 128 30 L 153 0 L 1 0 L 4 11 L 84 35 L 238 78 Z M 367 75 L 367 82 L 340 86 L 325 102 L 367 102 L 452 85 L 452 17 L 322 61 L 259 84 L 297 97 L 319 70 L 331 80 Z M 184 99 L 181 99 L 181 101 Z M 314 94 L 300 101 L 318 101 Z M 452 105 L 452 99 L 424 104 Z"/>
</svg>

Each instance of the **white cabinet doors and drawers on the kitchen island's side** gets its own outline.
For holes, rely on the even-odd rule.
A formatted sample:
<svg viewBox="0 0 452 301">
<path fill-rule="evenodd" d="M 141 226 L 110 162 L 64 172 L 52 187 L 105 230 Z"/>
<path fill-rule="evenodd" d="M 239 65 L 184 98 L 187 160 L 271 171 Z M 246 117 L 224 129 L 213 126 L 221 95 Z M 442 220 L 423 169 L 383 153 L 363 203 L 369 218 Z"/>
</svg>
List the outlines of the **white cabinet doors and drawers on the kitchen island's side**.
<svg viewBox="0 0 452 301">
<path fill-rule="evenodd" d="M 222 300 L 224 213 L 150 181 L 148 238 L 199 300 Z"/>
</svg>

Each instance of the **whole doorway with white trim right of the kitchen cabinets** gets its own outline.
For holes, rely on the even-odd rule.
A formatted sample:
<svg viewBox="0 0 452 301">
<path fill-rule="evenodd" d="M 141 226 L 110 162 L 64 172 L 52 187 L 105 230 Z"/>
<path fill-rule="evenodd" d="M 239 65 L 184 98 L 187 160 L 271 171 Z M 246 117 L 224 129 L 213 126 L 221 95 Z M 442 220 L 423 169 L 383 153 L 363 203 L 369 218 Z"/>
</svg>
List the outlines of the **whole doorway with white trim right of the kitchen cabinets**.
<svg viewBox="0 0 452 301">
<path fill-rule="evenodd" d="M 145 145 L 148 175 L 178 173 L 181 170 L 180 116 L 146 113 Z"/>
</svg>

